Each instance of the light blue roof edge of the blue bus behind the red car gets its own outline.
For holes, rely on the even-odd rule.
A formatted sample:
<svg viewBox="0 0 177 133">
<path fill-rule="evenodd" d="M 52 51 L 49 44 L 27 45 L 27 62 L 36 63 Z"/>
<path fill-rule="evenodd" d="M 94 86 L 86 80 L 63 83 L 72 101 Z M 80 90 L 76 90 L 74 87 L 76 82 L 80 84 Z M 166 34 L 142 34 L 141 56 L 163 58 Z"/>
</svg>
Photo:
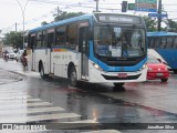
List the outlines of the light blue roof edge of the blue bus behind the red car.
<svg viewBox="0 0 177 133">
<path fill-rule="evenodd" d="M 165 32 L 165 31 L 147 32 L 147 37 L 165 37 L 165 35 L 177 35 L 177 33 L 176 32 Z"/>
</svg>

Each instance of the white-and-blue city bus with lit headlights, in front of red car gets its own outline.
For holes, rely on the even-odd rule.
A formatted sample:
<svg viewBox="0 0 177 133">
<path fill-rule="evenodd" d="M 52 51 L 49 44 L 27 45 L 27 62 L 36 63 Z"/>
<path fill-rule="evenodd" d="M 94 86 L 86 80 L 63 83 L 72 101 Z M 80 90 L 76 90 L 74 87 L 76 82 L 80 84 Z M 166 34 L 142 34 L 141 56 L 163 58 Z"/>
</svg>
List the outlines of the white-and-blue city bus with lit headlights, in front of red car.
<svg viewBox="0 0 177 133">
<path fill-rule="evenodd" d="M 146 25 L 140 17 L 92 13 L 61 20 L 30 30 L 28 47 L 31 69 L 41 78 L 65 78 L 72 86 L 79 81 L 115 86 L 146 81 Z"/>
</svg>

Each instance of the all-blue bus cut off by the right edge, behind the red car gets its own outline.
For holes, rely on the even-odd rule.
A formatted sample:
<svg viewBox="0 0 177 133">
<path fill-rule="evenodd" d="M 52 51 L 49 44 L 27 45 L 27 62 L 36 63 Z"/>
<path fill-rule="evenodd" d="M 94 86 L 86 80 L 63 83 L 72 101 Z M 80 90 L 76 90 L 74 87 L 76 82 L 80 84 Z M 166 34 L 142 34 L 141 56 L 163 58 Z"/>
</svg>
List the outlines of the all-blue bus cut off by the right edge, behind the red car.
<svg viewBox="0 0 177 133">
<path fill-rule="evenodd" d="M 177 33 L 147 32 L 148 49 L 154 49 L 167 62 L 174 73 L 177 73 Z"/>
</svg>

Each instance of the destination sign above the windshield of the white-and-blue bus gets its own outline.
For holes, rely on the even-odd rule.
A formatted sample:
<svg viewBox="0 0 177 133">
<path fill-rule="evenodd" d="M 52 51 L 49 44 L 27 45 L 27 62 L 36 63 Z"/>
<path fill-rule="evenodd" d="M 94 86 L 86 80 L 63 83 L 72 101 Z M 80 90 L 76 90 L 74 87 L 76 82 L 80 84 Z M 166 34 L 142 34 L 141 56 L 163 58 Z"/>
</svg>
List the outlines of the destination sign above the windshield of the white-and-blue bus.
<svg viewBox="0 0 177 133">
<path fill-rule="evenodd" d="M 133 16 L 123 16 L 123 14 L 98 14 L 96 17 L 98 22 L 108 22 L 108 23 L 134 23 L 139 24 L 140 18 Z"/>
</svg>

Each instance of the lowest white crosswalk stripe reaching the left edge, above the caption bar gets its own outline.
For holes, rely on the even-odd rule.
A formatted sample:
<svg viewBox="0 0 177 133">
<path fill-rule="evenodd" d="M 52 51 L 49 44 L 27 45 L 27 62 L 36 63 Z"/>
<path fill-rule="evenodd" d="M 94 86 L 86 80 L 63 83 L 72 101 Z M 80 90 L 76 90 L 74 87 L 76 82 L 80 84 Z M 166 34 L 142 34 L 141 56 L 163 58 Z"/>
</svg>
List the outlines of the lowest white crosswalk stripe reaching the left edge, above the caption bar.
<svg viewBox="0 0 177 133">
<path fill-rule="evenodd" d="M 70 119 L 72 121 L 81 119 L 81 115 L 75 113 L 56 113 L 56 114 L 43 114 L 43 115 L 33 115 L 33 116 L 18 116 L 13 119 L 0 119 L 0 123 L 27 123 L 35 121 L 45 121 L 45 120 L 59 120 L 64 122 L 64 120 Z"/>
</svg>

